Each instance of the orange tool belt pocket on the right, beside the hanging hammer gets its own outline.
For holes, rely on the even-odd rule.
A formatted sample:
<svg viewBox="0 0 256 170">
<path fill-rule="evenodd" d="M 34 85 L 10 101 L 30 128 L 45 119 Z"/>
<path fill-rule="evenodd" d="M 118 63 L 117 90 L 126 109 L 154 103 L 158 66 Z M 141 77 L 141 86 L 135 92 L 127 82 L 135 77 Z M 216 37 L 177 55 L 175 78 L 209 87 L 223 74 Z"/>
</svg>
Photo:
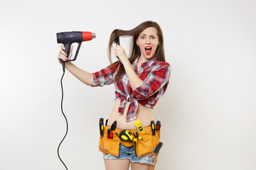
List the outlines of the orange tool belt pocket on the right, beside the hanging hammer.
<svg viewBox="0 0 256 170">
<path fill-rule="evenodd" d="M 148 138 L 146 138 L 146 136 Z M 150 154 L 154 152 L 154 149 L 156 148 L 156 145 L 159 143 L 159 135 L 146 135 L 142 136 L 142 141 L 137 142 L 137 154 L 138 157 L 141 157 L 146 154 Z"/>
</svg>

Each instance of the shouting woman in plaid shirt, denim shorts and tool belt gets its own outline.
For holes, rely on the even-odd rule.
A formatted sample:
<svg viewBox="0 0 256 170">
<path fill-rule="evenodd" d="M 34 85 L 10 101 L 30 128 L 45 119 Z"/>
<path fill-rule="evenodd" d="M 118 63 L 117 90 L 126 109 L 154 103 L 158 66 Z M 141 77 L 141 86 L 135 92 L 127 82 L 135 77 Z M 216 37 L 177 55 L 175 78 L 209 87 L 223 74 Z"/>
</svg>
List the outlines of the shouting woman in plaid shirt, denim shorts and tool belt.
<svg viewBox="0 0 256 170">
<path fill-rule="evenodd" d="M 108 47 L 110 62 L 112 44 L 119 36 L 132 36 L 130 57 L 127 57 L 122 46 L 117 45 L 114 55 L 119 60 L 100 72 L 90 74 L 71 62 L 66 62 L 65 68 L 88 86 L 115 86 L 114 108 L 104 128 L 104 135 L 100 137 L 100 151 L 103 152 L 106 169 L 128 170 L 130 164 L 132 169 L 150 169 L 155 157 L 151 152 L 160 137 L 159 131 L 156 131 L 156 135 L 151 131 L 153 108 L 166 91 L 171 67 L 165 62 L 163 34 L 157 23 L 146 21 L 132 30 L 114 30 Z M 68 60 L 73 47 L 69 57 L 63 50 L 65 47 L 61 45 L 58 61 Z M 137 120 L 142 123 L 143 132 L 135 126 Z M 117 126 L 112 129 L 114 137 L 111 139 L 107 130 L 115 121 Z M 122 131 L 131 135 L 133 141 L 122 141 Z"/>
</svg>

